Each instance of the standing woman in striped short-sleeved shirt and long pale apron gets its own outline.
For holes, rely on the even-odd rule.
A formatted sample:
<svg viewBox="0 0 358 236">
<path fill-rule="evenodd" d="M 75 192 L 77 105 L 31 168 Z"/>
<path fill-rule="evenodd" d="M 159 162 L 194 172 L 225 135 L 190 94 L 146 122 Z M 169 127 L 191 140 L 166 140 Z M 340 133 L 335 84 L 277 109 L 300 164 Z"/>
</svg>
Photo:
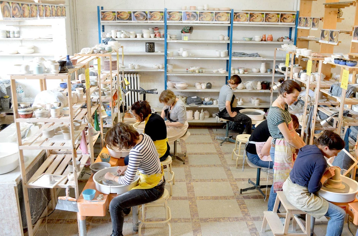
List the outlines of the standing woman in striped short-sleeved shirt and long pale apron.
<svg viewBox="0 0 358 236">
<path fill-rule="evenodd" d="M 271 187 L 268 210 L 272 211 L 276 191 L 282 191 L 282 184 L 293 167 L 293 153 L 304 146 L 294 129 L 288 106 L 297 101 L 301 86 L 293 80 L 284 81 L 279 88 L 279 96 L 272 103 L 267 114 L 267 126 L 272 139 L 270 156 L 274 162 L 274 184 Z"/>
</svg>

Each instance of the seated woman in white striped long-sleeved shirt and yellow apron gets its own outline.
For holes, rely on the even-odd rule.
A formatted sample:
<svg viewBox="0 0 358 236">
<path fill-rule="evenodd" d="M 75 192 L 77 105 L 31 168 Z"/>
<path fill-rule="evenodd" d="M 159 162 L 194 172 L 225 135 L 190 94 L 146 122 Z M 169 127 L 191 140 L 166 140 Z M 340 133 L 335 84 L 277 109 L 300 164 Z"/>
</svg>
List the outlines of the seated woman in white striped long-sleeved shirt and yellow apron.
<svg viewBox="0 0 358 236">
<path fill-rule="evenodd" d="M 128 166 L 118 167 L 118 174 L 124 176 L 107 172 L 105 179 L 129 185 L 137 171 L 140 175 L 137 186 L 115 197 L 109 204 L 111 236 L 122 236 L 123 210 L 158 200 L 165 189 L 164 171 L 152 139 L 147 134 L 139 134 L 132 126 L 117 123 L 107 131 L 104 140 L 111 149 L 131 149 Z"/>
</svg>

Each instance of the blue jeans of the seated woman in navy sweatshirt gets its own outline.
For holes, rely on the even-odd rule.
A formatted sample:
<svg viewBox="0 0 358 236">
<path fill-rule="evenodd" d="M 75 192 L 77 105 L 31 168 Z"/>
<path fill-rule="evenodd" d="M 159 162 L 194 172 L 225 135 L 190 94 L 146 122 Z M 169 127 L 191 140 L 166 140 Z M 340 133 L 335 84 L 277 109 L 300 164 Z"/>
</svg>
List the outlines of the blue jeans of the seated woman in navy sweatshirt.
<svg viewBox="0 0 358 236">
<path fill-rule="evenodd" d="M 326 215 L 324 215 L 330 218 L 327 224 L 326 236 L 340 236 L 343 231 L 346 211 L 333 203 L 328 202 L 328 204 L 328 211 Z"/>
</svg>

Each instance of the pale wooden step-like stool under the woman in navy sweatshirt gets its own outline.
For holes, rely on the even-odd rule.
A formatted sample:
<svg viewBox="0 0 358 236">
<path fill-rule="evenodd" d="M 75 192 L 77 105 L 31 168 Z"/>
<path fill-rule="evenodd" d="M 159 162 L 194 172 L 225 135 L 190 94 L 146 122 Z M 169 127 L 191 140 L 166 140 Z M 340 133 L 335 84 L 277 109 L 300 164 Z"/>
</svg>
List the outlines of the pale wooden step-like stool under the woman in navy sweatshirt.
<svg viewBox="0 0 358 236">
<path fill-rule="evenodd" d="M 281 205 L 286 209 L 286 213 L 277 213 L 278 205 L 281 202 Z M 269 223 L 269 226 L 271 228 L 271 231 L 274 235 L 292 235 L 292 236 L 298 236 L 298 235 L 311 235 L 311 217 L 307 213 L 305 213 L 302 210 L 297 209 L 292 204 L 290 204 L 286 196 L 283 194 L 283 191 L 277 192 L 277 197 L 274 205 L 273 211 L 264 211 L 263 212 L 263 222 L 262 222 L 262 228 L 261 232 L 265 232 L 266 224 Z M 306 215 L 306 225 L 304 226 L 303 223 L 296 217 L 294 214 L 304 214 Z M 285 217 L 285 224 L 282 225 L 280 217 Z M 292 220 L 292 230 L 296 231 L 296 224 L 301 228 L 303 233 L 288 233 L 288 226 L 289 222 L 291 220 L 291 217 L 293 217 Z"/>
</svg>

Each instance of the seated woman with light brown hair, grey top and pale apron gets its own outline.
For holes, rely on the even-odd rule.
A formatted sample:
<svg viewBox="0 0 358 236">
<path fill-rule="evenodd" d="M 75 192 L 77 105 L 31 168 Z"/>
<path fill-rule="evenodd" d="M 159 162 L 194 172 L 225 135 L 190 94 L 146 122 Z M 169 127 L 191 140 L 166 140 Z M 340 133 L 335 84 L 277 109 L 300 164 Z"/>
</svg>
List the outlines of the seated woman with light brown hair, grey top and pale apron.
<svg viewBox="0 0 358 236">
<path fill-rule="evenodd" d="M 189 127 L 187 121 L 187 111 L 182 100 L 176 98 L 171 90 L 164 90 L 159 96 L 159 102 L 164 104 L 162 110 L 162 118 L 167 119 L 165 125 L 167 126 L 168 144 L 182 137 Z"/>
</svg>

